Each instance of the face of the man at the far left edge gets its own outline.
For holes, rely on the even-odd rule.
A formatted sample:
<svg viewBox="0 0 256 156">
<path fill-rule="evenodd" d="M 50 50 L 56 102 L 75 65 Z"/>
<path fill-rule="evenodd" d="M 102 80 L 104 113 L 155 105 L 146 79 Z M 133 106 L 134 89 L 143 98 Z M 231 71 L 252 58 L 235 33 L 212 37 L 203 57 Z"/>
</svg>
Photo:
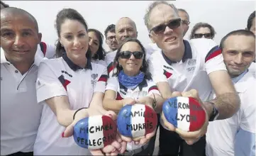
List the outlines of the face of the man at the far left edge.
<svg viewBox="0 0 256 156">
<path fill-rule="evenodd" d="M 1 11 L 1 48 L 9 62 L 32 63 L 41 37 L 30 17 Z"/>
</svg>

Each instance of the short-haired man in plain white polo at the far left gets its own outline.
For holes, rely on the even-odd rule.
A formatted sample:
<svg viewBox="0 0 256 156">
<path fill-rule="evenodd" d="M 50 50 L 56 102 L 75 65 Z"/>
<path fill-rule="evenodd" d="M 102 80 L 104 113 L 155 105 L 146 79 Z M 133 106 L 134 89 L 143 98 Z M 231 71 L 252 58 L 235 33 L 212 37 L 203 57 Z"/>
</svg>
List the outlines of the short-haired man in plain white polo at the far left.
<svg viewBox="0 0 256 156">
<path fill-rule="evenodd" d="M 35 94 L 40 40 L 30 13 L 1 9 L 1 155 L 33 155 L 43 108 Z"/>
</svg>

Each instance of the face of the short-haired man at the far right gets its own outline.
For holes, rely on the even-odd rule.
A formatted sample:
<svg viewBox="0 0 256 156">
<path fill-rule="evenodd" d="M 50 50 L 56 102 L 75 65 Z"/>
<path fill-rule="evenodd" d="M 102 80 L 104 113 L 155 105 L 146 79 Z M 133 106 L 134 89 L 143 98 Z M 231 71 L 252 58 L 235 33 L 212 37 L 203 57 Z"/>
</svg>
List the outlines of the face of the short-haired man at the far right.
<svg viewBox="0 0 256 156">
<path fill-rule="evenodd" d="M 223 57 L 230 77 L 243 73 L 255 60 L 255 38 L 231 35 L 223 45 Z"/>
</svg>

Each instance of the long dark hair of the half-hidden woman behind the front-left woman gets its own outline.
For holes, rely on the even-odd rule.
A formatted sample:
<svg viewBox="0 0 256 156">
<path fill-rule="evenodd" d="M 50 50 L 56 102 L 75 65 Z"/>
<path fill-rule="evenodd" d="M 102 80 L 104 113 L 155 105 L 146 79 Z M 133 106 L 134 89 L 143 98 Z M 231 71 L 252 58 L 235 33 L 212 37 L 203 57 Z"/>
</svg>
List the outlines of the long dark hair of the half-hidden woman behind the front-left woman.
<svg viewBox="0 0 256 156">
<path fill-rule="evenodd" d="M 94 60 L 97 60 L 97 59 L 105 60 L 106 51 L 102 47 L 104 36 L 102 35 L 102 33 L 99 30 L 96 30 L 94 28 L 89 28 L 88 29 L 88 33 L 89 32 L 94 32 L 96 34 L 96 37 L 99 40 L 99 49 L 96 51 L 96 54 L 93 57 L 91 57 L 91 58 L 94 59 Z"/>
</svg>

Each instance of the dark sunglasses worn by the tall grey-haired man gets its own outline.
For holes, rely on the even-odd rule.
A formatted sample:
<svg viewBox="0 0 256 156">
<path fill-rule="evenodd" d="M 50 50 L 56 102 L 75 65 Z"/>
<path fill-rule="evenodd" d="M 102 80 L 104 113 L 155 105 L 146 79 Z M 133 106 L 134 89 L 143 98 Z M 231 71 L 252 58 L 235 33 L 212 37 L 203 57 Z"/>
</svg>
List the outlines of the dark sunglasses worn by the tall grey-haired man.
<svg viewBox="0 0 256 156">
<path fill-rule="evenodd" d="M 180 24 L 182 23 L 182 20 L 180 18 L 174 19 L 169 21 L 167 24 L 160 24 L 159 26 L 155 26 L 150 30 L 153 31 L 155 34 L 160 34 L 165 32 L 165 28 L 168 26 L 171 29 L 178 28 Z"/>
</svg>

